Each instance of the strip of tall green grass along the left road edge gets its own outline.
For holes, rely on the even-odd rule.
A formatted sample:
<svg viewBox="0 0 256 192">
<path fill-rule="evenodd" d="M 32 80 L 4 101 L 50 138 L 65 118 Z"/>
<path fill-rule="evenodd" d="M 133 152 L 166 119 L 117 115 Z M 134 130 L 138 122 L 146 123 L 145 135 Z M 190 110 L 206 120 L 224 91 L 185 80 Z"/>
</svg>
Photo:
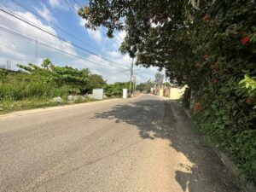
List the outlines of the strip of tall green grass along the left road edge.
<svg viewBox="0 0 256 192">
<path fill-rule="evenodd" d="M 96 101 L 90 97 L 77 96 L 68 101 L 70 87 L 57 87 L 42 81 L 0 82 L 0 114 L 32 108 L 46 108 L 81 102 Z M 55 97 L 61 100 L 55 101 Z"/>
</svg>

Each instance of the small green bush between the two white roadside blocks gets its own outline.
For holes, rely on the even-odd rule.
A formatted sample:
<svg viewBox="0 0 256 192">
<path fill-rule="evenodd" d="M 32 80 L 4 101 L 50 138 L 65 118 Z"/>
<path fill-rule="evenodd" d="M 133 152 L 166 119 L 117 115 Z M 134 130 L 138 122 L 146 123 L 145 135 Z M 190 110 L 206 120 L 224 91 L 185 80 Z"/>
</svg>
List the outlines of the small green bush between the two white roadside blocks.
<svg viewBox="0 0 256 192">
<path fill-rule="evenodd" d="M 104 86 L 104 93 L 106 96 L 122 96 L 123 89 L 129 89 L 129 83 L 116 82 L 114 84 L 106 84 Z"/>
</svg>

